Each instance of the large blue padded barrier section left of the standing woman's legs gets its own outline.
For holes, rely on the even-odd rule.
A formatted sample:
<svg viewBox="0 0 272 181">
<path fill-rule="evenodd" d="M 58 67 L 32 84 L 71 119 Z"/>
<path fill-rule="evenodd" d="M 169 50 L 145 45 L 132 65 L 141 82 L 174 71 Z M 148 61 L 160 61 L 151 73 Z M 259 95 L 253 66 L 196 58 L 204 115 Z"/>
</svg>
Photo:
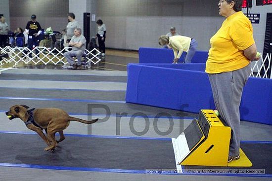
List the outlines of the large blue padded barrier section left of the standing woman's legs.
<svg viewBox="0 0 272 181">
<path fill-rule="evenodd" d="M 129 64 L 126 101 L 199 112 L 199 109 L 214 108 L 207 82 L 205 72 Z"/>
</svg>

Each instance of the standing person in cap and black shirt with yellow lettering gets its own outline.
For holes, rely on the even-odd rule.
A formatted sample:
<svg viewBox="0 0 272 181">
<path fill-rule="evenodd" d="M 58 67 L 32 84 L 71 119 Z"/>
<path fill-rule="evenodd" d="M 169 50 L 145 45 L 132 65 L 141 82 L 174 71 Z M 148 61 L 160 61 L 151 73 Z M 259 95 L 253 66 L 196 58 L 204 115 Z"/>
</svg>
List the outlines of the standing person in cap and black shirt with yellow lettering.
<svg viewBox="0 0 272 181">
<path fill-rule="evenodd" d="M 33 14 L 31 16 L 31 21 L 27 22 L 26 25 L 26 32 L 28 33 L 28 48 L 32 50 L 36 46 L 39 46 L 39 35 L 42 33 L 41 25 L 38 21 L 36 21 L 36 15 Z M 38 54 L 39 51 L 36 49 L 36 54 Z M 29 55 L 30 58 L 32 58 L 32 54 Z"/>
</svg>

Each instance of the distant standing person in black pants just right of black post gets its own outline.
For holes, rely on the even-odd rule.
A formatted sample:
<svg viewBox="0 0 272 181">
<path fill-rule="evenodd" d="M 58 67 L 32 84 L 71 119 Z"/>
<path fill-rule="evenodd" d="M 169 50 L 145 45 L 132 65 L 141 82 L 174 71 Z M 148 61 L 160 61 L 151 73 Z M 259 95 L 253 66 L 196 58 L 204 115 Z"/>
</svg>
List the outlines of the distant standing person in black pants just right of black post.
<svg viewBox="0 0 272 181">
<path fill-rule="evenodd" d="M 99 51 L 102 52 L 101 56 L 105 56 L 105 40 L 106 40 L 106 26 L 103 24 L 102 20 L 97 20 L 96 24 L 98 25 L 98 31 L 96 37 L 98 38 Z"/>
</svg>

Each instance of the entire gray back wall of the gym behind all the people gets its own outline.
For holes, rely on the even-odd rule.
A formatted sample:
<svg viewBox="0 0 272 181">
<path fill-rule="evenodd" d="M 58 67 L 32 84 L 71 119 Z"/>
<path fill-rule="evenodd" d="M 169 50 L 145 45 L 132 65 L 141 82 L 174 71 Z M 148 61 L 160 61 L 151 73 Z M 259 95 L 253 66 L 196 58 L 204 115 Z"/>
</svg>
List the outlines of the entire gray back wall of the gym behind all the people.
<svg viewBox="0 0 272 181">
<path fill-rule="evenodd" d="M 261 14 L 260 24 L 253 24 L 253 28 L 258 50 L 262 52 L 266 13 L 272 12 L 272 5 L 255 6 L 255 2 L 250 12 Z M 69 9 L 74 11 L 81 26 L 83 12 L 91 12 L 96 20 L 101 18 L 106 24 L 106 47 L 133 50 L 140 46 L 159 47 L 158 36 L 175 26 L 180 35 L 194 37 L 199 50 L 209 50 L 210 37 L 225 19 L 218 15 L 217 3 L 215 0 L 1 0 L 0 12 L 5 14 L 11 30 L 25 28 L 31 14 L 36 14 L 43 28 L 51 26 L 56 31 L 66 27 Z M 96 31 L 95 22 L 91 22 L 91 36 Z"/>
</svg>

